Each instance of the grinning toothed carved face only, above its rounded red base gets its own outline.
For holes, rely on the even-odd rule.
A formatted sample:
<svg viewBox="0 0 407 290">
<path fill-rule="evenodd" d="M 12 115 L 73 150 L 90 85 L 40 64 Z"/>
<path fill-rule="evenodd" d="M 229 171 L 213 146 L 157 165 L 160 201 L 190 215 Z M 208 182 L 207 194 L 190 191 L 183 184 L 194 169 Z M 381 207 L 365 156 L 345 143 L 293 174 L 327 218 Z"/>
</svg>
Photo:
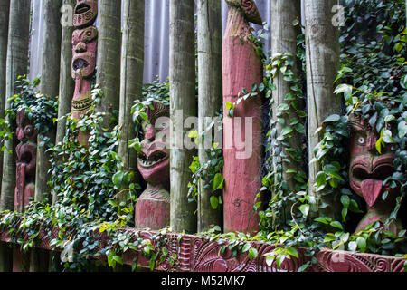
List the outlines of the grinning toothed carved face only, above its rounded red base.
<svg viewBox="0 0 407 290">
<path fill-rule="evenodd" d="M 169 151 L 165 136 L 170 130 L 169 109 L 161 102 L 147 107 L 148 122 L 143 122 L 145 138 L 138 154 L 138 170 L 143 179 L 152 185 L 169 186 Z"/>
</svg>

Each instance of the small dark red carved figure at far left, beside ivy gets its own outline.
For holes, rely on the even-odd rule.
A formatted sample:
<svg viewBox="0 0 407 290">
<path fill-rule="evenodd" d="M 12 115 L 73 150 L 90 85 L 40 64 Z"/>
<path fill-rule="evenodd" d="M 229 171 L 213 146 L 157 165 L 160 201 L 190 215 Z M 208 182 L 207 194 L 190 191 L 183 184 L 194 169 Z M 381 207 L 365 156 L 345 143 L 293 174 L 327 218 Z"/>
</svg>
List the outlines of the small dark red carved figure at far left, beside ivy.
<svg viewBox="0 0 407 290">
<path fill-rule="evenodd" d="M 17 113 L 17 155 L 16 182 L 14 189 L 14 210 L 23 212 L 35 193 L 35 164 L 37 156 L 37 130 L 25 116 L 25 111 Z"/>
</svg>

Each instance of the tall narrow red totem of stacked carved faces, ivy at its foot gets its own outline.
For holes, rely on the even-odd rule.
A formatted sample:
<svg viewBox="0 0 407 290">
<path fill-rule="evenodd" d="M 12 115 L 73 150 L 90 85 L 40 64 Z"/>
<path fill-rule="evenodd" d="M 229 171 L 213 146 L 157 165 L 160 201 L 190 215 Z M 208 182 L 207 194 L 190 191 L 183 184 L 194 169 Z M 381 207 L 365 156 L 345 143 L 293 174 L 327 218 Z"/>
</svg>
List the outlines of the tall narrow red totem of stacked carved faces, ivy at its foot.
<svg viewBox="0 0 407 290">
<path fill-rule="evenodd" d="M 73 14 L 72 34 L 72 79 L 75 91 L 72 98 L 72 116 L 80 116 L 90 109 L 91 77 L 95 74 L 96 53 L 98 46 L 98 29 L 93 23 L 98 16 L 98 0 L 77 0 Z M 88 137 L 80 132 L 80 144 L 87 144 Z"/>
</svg>

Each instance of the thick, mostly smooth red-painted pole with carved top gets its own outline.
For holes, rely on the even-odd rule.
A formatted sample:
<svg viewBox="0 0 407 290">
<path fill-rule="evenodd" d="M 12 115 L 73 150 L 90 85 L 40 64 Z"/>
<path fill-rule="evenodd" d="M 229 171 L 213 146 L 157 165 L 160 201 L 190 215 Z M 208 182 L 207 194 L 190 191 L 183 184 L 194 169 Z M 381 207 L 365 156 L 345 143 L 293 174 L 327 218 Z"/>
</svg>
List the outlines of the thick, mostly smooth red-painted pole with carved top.
<svg viewBox="0 0 407 290">
<path fill-rule="evenodd" d="M 262 24 L 253 0 L 226 0 L 229 14 L 222 43 L 223 104 L 236 102 L 243 88 L 262 82 L 262 64 L 249 39 L 249 23 Z M 261 178 L 260 97 L 236 105 L 233 118 L 223 108 L 223 189 L 225 231 L 254 233 L 259 217 L 253 211 Z"/>
</svg>

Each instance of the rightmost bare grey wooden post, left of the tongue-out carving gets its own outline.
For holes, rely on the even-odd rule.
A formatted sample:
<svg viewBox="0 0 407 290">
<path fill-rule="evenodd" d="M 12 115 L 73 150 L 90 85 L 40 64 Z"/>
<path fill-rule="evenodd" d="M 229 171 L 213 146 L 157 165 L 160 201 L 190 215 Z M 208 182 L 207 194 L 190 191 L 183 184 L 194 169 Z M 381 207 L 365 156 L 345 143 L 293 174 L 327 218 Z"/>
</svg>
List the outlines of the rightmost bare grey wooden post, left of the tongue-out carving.
<svg viewBox="0 0 407 290">
<path fill-rule="evenodd" d="M 341 99 L 334 94 L 334 81 L 339 66 L 338 27 L 332 23 L 332 7 L 336 0 L 305 0 L 306 45 L 307 45 L 307 91 L 308 91 L 308 154 L 314 158 L 314 148 L 321 140 L 317 128 L 332 114 L 341 111 Z M 309 194 L 317 199 L 317 205 L 326 202 L 332 206 L 331 197 L 322 197 L 314 187 L 317 163 L 309 164 Z M 332 195 L 330 195 L 332 196 Z M 333 216 L 334 208 L 326 213 Z"/>
</svg>

